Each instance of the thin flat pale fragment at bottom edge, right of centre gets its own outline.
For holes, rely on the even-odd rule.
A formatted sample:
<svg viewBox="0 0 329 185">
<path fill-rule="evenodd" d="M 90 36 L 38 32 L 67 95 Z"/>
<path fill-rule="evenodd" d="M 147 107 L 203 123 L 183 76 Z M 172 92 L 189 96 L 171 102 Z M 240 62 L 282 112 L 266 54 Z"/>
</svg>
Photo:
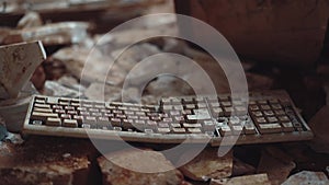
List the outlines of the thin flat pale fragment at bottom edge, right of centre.
<svg viewBox="0 0 329 185">
<path fill-rule="evenodd" d="M 271 183 L 266 174 L 256 174 L 232 178 L 212 180 L 211 185 L 271 185 Z"/>
</svg>

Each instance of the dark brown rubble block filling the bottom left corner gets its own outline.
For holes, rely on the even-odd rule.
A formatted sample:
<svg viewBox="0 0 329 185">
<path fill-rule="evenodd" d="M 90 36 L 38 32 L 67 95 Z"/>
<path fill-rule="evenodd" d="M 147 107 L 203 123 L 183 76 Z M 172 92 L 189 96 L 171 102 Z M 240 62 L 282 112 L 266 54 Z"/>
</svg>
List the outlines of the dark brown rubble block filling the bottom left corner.
<svg viewBox="0 0 329 185">
<path fill-rule="evenodd" d="M 0 148 L 1 184 L 88 184 L 88 157 L 94 150 L 87 140 L 31 137 L 23 144 L 4 144 L 7 150 Z M 65 153 L 71 158 L 63 158 Z"/>
</svg>

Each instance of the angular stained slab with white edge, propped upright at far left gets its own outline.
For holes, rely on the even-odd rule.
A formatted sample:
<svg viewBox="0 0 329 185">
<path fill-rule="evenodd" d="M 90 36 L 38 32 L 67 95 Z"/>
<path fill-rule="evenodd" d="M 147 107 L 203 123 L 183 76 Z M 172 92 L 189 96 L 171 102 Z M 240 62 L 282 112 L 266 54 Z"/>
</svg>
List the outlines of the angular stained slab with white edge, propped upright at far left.
<svg viewBox="0 0 329 185">
<path fill-rule="evenodd" d="M 41 42 L 0 46 L 0 99 L 15 99 L 46 58 Z"/>
</svg>

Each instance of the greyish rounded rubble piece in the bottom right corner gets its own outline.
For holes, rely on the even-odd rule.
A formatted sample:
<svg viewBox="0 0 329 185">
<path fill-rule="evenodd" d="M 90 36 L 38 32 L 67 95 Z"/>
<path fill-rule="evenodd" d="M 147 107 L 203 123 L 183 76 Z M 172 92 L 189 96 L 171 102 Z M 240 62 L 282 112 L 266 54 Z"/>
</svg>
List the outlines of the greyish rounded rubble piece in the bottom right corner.
<svg viewBox="0 0 329 185">
<path fill-rule="evenodd" d="M 290 176 L 282 185 L 328 185 L 329 180 L 324 172 L 303 171 Z"/>
</svg>

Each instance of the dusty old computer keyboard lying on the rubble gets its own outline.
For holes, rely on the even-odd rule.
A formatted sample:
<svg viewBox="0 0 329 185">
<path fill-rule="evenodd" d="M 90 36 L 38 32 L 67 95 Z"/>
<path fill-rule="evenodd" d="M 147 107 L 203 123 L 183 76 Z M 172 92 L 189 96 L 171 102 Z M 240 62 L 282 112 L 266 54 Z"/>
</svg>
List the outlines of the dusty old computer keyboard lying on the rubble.
<svg viewBox="0 0 329 185">
<path fill-rule="evenodd" d="M 313 134 L 285 91 L 166 97 L 158 105 L 35 95 L 24 134 L 126 141 L 246 144 L 308 140 Z"/>
</svg>

